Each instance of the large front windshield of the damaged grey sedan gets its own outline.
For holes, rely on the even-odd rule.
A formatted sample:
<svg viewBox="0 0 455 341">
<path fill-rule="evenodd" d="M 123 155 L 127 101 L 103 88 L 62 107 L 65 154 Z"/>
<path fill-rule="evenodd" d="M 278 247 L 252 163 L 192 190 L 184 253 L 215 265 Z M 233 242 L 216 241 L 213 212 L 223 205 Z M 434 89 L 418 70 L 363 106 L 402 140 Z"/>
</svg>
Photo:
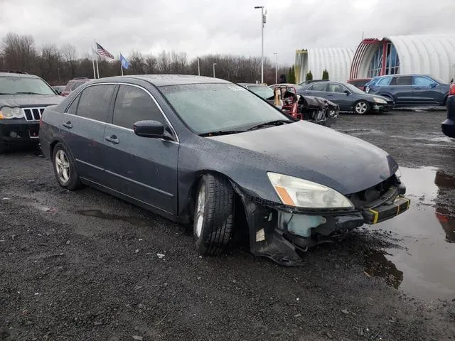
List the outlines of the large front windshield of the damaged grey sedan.
<svg viewBox="0 0 455 341">
<path fill-rule="evenodd" d="M 288 119 L 263 99 L 235 84 L 172 85 L 160 90 L 196 134 L 246 130 L 268 121 Z"/>
</svg>

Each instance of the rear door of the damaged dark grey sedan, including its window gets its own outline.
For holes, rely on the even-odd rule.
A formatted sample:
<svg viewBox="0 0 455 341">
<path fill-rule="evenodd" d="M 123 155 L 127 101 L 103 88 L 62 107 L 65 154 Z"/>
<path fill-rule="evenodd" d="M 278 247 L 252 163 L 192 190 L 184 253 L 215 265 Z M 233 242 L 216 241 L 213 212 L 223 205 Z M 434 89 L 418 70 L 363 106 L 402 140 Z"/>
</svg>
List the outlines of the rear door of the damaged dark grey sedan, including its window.
<svg viewBox="0 0 455 341">
<path fill-rule="evenodd" d="M 104 183 L 100 148 L 115 85 L 92 85 L 82 90 L 63 114 L 64 140 L 82 178 Z"/>
</svg>

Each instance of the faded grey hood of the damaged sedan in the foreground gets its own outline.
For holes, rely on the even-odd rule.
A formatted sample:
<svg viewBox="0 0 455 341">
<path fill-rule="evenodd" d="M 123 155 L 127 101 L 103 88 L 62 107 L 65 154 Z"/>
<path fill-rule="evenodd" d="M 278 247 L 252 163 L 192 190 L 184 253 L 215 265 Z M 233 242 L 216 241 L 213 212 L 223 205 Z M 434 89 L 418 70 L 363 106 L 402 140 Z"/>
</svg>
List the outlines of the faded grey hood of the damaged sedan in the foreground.
<svg viewBox="0 0 455 341">
<path fill-rule="evenodd" d="M 235 146 L 235 159 L 249 167 L 257 163 L 257 177 L 262 171 L 282 173 L 344 195 L 378 185 L 398 168 L 377 146 L 307 121 L 208 139 Z"/>
</svg>

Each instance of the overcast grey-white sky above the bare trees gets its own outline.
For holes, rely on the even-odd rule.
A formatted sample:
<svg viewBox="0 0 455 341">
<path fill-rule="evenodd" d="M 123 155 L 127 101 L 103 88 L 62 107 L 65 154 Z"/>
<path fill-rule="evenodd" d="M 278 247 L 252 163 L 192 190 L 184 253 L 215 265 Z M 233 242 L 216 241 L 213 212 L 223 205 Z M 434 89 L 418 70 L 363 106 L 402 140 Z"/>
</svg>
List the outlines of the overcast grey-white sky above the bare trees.
<svg viewBox="0 0 455 341">
<path fill-rule="evenodd" d="M 264 55 L 294 63 L 295 50 L 356 47 L 365 37 L 455 31 L 455 0 L 0 0 L 0 36 L 31 34 L 36 45 L 93 40 L 118 58 L 132 50 Z"/>
</svg>

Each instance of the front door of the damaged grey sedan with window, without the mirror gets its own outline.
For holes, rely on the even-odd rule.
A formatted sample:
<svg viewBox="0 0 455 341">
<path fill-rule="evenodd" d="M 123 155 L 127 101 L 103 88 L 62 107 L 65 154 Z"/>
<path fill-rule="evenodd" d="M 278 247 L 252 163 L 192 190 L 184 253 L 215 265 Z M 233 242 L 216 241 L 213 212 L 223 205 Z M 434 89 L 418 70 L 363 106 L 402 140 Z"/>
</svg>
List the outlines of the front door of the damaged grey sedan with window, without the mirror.
<svg viewBox="0 0 455 341">
<path fill-rule="evenodd" d="M 178 142 L 134 134 L 136 121 L 159 121 L 173 135 L 151 94 L 136 85 L 120 85 L 114 101 L 112 124 L 104 139 L 109 187 L 147 205 L 177 213 Z"/>
</svg>

